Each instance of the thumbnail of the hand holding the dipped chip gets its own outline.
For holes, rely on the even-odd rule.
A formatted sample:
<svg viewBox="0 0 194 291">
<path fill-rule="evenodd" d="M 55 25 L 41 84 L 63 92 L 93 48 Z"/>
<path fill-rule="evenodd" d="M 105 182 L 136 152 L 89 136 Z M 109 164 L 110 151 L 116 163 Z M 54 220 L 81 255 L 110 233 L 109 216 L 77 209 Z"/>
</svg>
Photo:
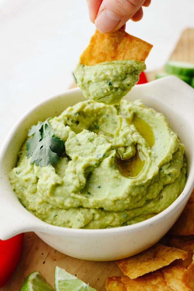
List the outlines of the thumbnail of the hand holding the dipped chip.
<svg viewBox="0 0 194 291">
<path fill-rule="evenodd" d="M 95 25 L 100 32 L 111 32 L 113 31 L 121 19 L 119 16 L 115 15 L 108 9 L 102 10 L 102 12 L 97 16 L 95 20 Z"/>
</svg>

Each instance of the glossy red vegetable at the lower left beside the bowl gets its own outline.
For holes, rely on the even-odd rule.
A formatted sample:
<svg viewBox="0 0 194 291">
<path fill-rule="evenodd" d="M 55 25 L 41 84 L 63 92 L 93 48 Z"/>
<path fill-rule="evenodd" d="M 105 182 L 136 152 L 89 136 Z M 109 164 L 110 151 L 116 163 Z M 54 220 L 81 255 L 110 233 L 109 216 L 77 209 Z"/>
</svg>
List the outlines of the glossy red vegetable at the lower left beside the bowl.
<svg viewBox="0 0 194 291">
<path fill-rule="evenodd" d="M 13 274 L 22 251 L 24 234 L 16 235 L 7 240 L 0 239 L 0 288 Z"/>
</svg>

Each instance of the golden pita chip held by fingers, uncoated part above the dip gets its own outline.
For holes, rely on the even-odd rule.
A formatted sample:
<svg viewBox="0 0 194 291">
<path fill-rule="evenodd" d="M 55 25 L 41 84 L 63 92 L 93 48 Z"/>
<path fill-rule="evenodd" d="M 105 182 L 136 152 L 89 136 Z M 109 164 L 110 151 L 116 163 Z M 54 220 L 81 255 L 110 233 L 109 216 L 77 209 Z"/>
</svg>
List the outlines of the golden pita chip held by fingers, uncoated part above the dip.
<svg viewBox="0 0 194 291">
<path fill-rule="evenodd" d="M 135 59 L 145 61 L 153 45 L 128 34 L 123 29 L 103 34 L 95 31 L 88 47 L 80 56 L 80 64 L 95 65 L 106 61 Z"/>
</svg>

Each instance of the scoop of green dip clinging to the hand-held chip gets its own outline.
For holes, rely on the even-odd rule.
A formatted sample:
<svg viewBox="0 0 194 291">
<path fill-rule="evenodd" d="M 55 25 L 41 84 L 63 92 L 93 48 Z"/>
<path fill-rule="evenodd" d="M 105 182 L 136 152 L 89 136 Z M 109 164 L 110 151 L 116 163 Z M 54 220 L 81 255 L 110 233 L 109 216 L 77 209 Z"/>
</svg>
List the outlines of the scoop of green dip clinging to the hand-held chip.
<svg viewBox="0 0 194 291">
<path fill-rule="evenodd" d="M 74 76 L 86 98 L 105 104 L 119 104 L 122 97 L 139 81 L 139 74 L 145 69 L 144 62 L 133 59 L 93 66 L 78 64 Z"/>
</svg>

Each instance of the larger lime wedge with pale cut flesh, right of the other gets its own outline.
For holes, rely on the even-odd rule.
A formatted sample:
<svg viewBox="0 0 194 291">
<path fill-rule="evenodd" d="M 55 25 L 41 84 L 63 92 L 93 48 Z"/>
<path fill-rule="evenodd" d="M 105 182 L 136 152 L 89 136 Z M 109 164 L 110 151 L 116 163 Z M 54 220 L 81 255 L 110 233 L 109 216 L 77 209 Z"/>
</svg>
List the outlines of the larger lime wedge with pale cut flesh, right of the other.
<svg viewBox="0 0 194 291">
<path fill-rule="evenodd" d="M 76 276 L 59 267 L 55 268 L 55 291 L 96 291 Z"/>
</svg>

